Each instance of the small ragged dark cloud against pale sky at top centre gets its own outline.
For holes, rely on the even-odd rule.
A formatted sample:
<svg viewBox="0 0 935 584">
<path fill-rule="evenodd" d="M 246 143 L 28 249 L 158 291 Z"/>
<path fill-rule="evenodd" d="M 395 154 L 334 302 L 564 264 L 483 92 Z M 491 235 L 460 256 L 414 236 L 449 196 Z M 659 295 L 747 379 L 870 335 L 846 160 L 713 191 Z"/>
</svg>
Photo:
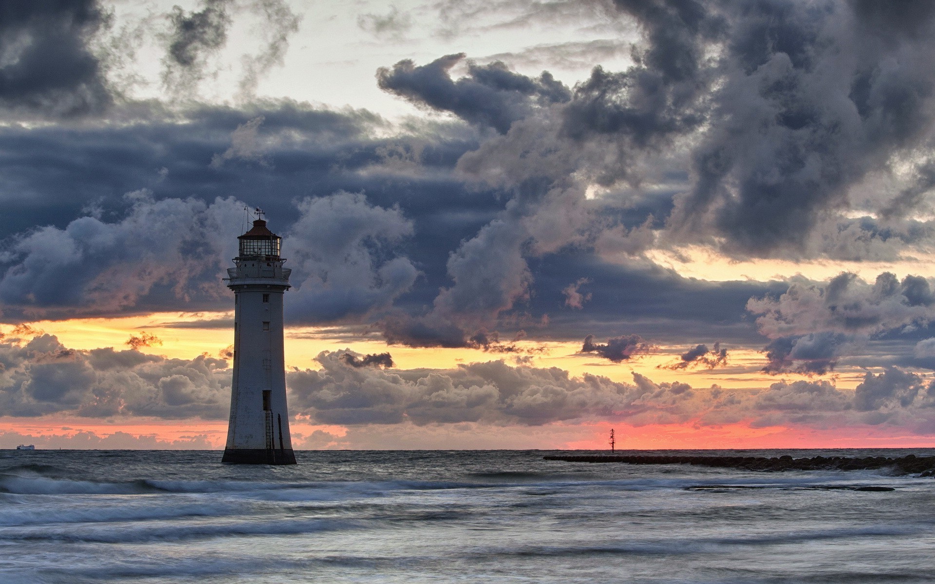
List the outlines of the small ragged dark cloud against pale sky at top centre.
<svg viewBox="0 0 935 584">
<path fill-rule="evenodd" d="M 567 102 L 568 88 L 543 72 L 528 78 L 511 72 L 500 62 L 476 64 L 468 61 L 468 76 L 452 79 L 451 69 L 464 53 L 447 55 L 430 64 L 400 61 L 393 69 L 381 67 L 377 82 L 383 91 L 410 102 L 454 115 L 482 127 L 506 133 L 511 123 L 525 118 L 538 106 Z"/>
</svg>

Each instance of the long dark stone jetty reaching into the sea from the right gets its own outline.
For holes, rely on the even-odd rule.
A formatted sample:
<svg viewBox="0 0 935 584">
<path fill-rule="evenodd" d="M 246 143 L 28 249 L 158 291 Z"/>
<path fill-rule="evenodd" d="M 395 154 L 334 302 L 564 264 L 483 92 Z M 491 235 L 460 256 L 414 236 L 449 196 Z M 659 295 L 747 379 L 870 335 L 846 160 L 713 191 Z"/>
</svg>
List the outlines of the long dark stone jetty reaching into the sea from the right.
<svg viewBox="0 0 935 584">
<path fill-rule="evenodd" d="M 565 461 L 567 463 L 626 463 L 626 464 L 697 464 L 699 466 L 717 466 L 721 468 L 741 468 L 759 471 L 786 470 L 862 470 L 872 468 L 891 468 L 898 475 L 935 476 L 935 456 L 916 457 L 913 454 L 898 458 L 869 456 L 850 458 L 845 456 L 815 456 L 813 458 L 792 458 L 789 455 L 778 458 L 761 456 L 653 456 L 653 455 L 586 455 L 586 456 L 543 456 L 547 461 Z"/>
</svg>

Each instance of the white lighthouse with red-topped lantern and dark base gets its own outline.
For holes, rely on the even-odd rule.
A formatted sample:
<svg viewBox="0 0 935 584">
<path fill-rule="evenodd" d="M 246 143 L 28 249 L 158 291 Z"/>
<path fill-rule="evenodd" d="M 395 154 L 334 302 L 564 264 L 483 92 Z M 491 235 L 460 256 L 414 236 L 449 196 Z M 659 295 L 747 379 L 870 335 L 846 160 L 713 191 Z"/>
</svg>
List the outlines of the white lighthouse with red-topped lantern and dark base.
<svg viewBox="0 0 935 584">
<path fill-rule="evenodd" d="M 223 463 L 295 464 L 286 408 L 282 355 L 282 298 L 289 274 L 280 257 L 282 238 L 266 228 L 263 211 L 239 240 L 234 291 L 234 380 Z"/>
</svg>

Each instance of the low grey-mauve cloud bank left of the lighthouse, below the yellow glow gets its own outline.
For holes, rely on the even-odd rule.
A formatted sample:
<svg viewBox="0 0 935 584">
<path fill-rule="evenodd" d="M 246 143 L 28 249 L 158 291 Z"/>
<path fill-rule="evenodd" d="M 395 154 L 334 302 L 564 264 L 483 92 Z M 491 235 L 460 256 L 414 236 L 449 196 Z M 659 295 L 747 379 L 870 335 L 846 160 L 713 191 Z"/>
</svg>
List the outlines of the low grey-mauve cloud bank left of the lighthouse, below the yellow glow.
<svg viewBox="0 0 935 584">
<path fill-rule="evenodd" d="M 135 349 L 77 350 L 55 336 L 0 342 L 0 408 L 8 416 L 153 416 L 221 420 L 230 369 L 207 356 L 167 359 Z"/>
</svg>

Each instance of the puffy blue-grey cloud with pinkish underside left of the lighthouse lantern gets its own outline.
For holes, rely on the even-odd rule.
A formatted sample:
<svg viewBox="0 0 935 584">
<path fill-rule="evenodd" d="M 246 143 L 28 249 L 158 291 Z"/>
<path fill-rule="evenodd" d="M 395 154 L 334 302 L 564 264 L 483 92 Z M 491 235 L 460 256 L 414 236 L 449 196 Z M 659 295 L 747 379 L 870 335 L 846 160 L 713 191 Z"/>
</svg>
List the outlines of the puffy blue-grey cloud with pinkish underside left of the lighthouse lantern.
<svg viewBox="0 0 935 584">
<path fill-rule="evenodd" d="M 228 258 L 236 254 L 243 204 L 217 199 L 153 201 L 127 195 L 121 221 L 93 217 L 65 229 L 40 227 L 18 235 L 0 255 L 5 311 L 33 317 L 73 317 L 139 310 L 146 299 L 217 299 Z M 63 278 L 67 286 L 59 285 Z M 225 295 L 225 294 L 224 294 Z M 12 316 L 12 315 L 9 315 Z"/>
</svg>

